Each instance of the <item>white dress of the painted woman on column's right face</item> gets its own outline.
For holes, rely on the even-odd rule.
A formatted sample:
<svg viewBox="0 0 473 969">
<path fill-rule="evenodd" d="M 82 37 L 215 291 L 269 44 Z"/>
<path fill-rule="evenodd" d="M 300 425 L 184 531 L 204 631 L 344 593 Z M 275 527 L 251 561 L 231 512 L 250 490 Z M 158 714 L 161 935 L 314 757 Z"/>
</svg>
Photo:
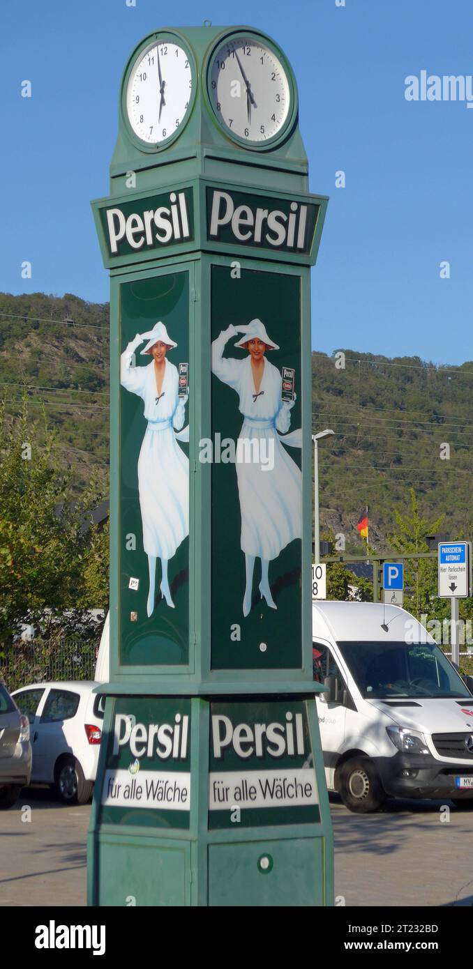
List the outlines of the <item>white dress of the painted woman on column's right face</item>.
<svg viewBox="0 0 473 969">
<path fill-rule="evenodd" d="M 234 330 L 234 332 L 232 332 Z M 238 441 L 272 440 L 272 470 L 263 470 L 257 461 L 236 460 L 239 507 L 241 513 L 241 549 L 247 555 L 273 559 L 293 539 L 301 538 L 301 474 L 287 453 L 277 431 L 289 430 L 291 412 L 281 401 L 281 374 L 265 356 L 265 369 L 260 391 L 256 394 L 250 355 L 244 359 L 223 357 L 227 341 L 236 334 L 232 327 L 224 330 L 212 343 L 212 371 L 239 396 L 238 410 L 243 423 Z M 296 435 L 288 444 L 295 445 Z M 296 446 L 300 447 L 299 443 Z M 268 444 L 266 444 L 268 454 Z M 265 452 L 263 452 L 265 453 Z"/>
</svg>

